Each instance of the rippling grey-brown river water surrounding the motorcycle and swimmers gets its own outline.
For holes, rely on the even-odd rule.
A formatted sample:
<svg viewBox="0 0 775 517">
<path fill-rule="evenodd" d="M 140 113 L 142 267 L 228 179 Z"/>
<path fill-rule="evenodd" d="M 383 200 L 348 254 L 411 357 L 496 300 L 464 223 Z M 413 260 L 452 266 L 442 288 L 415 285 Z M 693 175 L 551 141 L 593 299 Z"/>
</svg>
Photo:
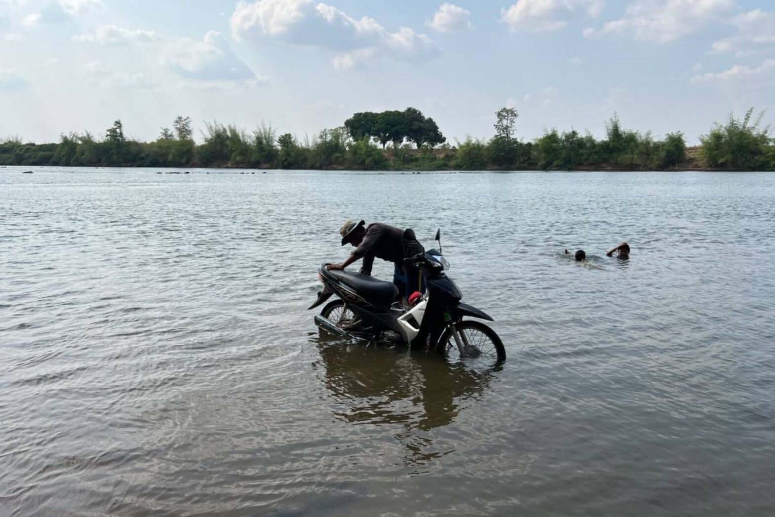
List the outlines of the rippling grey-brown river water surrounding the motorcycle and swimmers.
<svg viewBox="0 0 775 517">
<path fill-rule="evenodd" d="M 28 168 L 0 515 L 775 514 L 775 174 Z M 346 218 L 441 227 L 503 367 L 319 336 Z"/>
</svg>

